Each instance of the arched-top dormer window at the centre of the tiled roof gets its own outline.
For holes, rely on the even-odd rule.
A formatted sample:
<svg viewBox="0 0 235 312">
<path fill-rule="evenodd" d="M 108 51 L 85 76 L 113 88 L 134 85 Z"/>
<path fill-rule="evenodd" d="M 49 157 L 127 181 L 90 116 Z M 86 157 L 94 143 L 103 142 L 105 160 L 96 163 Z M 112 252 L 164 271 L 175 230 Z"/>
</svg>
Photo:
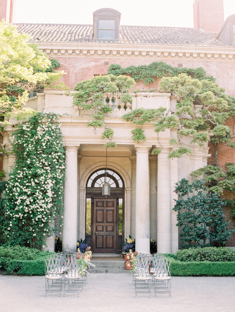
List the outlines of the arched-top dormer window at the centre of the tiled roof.
<svg viewBox="0 0 235 312">
<path fill-rule="evenodd" d="M 119 41 L 121 13 L 109 8 L 93 13 L 94 41 Z"/>
</svg>

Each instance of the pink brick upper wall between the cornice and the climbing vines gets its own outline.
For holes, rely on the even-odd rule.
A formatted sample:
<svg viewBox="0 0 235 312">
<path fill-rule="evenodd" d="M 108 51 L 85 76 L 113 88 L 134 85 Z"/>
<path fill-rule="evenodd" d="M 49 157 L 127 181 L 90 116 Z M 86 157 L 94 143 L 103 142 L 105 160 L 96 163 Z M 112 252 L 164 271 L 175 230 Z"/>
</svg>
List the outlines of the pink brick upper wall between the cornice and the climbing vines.
<svg viewBox="0 0 235 312">
<path fill-rule="evenodd" d="M 72 53 L 73 54 L 73 53 Z M 122 67 L 127 67 L 130 65 L 148 65 L 155 61 L 164 61 L 172 66 L 177 67 L 179 64 L 182 64 L 183 67 L 203 67 L 207 72 L 208 76 L 214 76 L 216 82 L 223 88 L 226 89 L 226 92 L 229 95 L 235 96 L 235 72 L 234 60 L 228 59 L 194 59 L 193 57 L 189 58 L 164 58 L 157 56 L 60 56 L 50 54 L 50 57 L 55 57 L 60 63 L 60 70 L 64 70 L 67 75 L 63 77 L 64 82 L 68 85 L 71 90 L 78 81 L 84 79 L 90 79 L 94 75 L 105 75 L 111 64 L 120 64 Z M 160 79 L 156 79 L 155 83 L 144 85 L 143 81 L 138 81 L 135 85 L 136 89 L 154 89 L 159 87 Z"/>
</svg>

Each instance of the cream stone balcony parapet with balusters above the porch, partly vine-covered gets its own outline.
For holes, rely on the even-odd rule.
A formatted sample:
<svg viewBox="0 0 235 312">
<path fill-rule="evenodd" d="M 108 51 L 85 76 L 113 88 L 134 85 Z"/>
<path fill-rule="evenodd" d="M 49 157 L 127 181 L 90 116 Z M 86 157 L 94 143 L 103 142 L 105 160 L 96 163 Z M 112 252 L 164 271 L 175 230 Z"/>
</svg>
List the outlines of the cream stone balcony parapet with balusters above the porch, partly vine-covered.
<svg viewBox="0 0 235 312">
<path fill-rule="evenodd" d="M 73 106 L 73 94 L 75 91 L 71 91 L 70 95 L 66 95 L 61 91 L 45 91 L 44 93 L 37 93 L 37 96 L 30 98 L 24 107 L 30 107 L 34 110 L 39 110 L 44 113 L 53 112 L 60 115 L 69 116 L 91 116 L 93 111 L 84 110 L 81 107 Z M 125 104 L 120 100 L 120 93 L 107 94 L 106 98 L 109 101 L 104 100 L 105 105 L 109 105 L 113 112 L 109 114 L 109 117 L 122 117 L 124 114 L 137 108 L 144 109 L 156 109 L 160 106 L 165 107 L 167 110 L 174 111 L 175 100 L 171 98 L 170 93 L 158 93 L 158 92 L 136 92 L 130 93 L 132 95 L 132 104 Z"/>
</svg>

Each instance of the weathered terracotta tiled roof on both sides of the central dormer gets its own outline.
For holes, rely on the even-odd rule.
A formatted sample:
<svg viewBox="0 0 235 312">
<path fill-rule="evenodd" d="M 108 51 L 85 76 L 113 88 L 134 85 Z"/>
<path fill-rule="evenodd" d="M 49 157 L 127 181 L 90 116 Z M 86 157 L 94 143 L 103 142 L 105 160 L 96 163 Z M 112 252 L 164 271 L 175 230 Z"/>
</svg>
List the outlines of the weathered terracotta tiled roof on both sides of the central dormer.
<svg viewBox="0 0 235 312">
<path fill-rule="evenodd" d="M 80 24 L 16 24 L 31 41 L 93 42 L 93 26 Z M 120 26 L 120 43 L 226 46 L 215 33 L 197 28 Z"/>
</svg>

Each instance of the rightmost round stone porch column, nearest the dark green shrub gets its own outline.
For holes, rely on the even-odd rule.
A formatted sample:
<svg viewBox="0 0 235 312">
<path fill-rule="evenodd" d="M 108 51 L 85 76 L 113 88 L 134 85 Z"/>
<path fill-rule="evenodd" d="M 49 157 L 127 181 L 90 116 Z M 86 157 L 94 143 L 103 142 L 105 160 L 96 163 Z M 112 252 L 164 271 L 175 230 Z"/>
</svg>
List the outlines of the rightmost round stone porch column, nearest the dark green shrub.
<svg viewBox="0 0 235 312">
<path fill-rule="evenodd" d="M 158 155 L 157 177 L 157 244 L 158 252 L 171 252 L 171 185 L 170 148 L 163 148 Z"/>
</svg>

